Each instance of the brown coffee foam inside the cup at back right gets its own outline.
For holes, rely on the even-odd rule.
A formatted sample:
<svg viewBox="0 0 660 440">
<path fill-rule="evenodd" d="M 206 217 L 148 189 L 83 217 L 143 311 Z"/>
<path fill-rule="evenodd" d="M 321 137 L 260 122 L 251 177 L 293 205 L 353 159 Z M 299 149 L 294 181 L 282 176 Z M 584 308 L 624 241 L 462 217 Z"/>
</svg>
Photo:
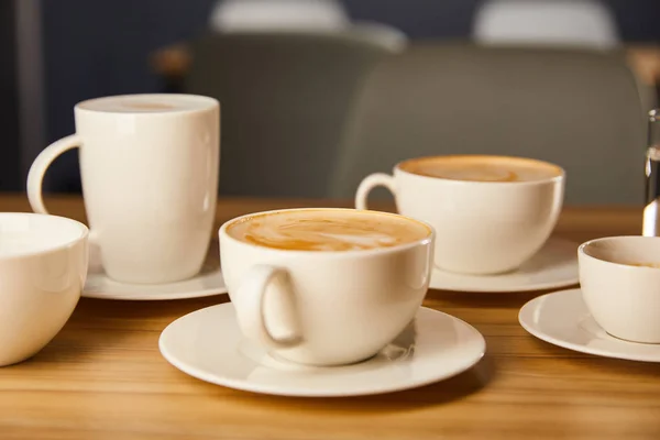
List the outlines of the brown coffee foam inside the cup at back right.
<svg viewBox="0 0 660 440">
<path fill-rule="evenodd" d="M 534 182 L 563 174 L 547 162 L 507 156 L 436 156 L 403 162 L 399 168 L 421 176 L 470 182 Z"/>
</svg>

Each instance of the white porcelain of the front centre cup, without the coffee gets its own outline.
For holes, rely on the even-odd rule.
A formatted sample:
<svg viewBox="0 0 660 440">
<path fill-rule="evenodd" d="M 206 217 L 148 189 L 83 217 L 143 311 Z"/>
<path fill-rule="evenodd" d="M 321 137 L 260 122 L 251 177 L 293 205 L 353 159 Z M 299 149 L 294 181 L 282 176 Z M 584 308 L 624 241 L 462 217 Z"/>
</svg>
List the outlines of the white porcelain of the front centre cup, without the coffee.
<svg viewBox="0 0 660 440">
<path fill-rule="evenodd" d="M 422 227 L 424 234 L 392 248 L 301 251 L 253 244 L 228 233 L 256 216 L 305 211 L 243 216 L 220 229 L 222 273 L 241 330 L 276 358 L 297 363 L 339 365 L 371 358 L 406 328 L 424 300 L 432 228 L 397 215 L 323 209 L 394 216 Z"/>
</svg>

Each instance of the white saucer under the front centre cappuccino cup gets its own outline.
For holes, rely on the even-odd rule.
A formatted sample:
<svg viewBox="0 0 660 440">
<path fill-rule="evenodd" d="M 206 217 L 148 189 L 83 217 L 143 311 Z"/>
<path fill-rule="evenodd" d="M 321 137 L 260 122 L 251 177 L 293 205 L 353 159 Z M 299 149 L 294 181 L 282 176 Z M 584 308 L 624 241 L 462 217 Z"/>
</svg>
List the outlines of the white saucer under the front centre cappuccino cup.
<svg viewBox="0 0 660 440">
<path fill-rule="evenodd" d="M 172 322 L 161 334 L 163 356 L 199 380 L 282 396 L 337 397 L 427 385 L 476 364 L 485 352 L 479 331 L 440 311 L 420 308 L 415 320 L 376 356 L 352 365 L 315 367 L 268 355 L 245 341 L 231 302 Z"/>
</svg>

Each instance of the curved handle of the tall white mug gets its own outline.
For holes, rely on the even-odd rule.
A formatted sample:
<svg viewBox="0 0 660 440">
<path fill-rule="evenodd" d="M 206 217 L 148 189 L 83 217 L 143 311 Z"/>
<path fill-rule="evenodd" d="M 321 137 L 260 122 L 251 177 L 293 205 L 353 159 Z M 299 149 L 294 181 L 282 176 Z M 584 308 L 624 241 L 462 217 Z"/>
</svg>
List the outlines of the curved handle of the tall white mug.
<svg viewBox="0 0 660 440">
<path fill-rule="evenodd" d="M 53 161 L 62 153 L 80 147 L 80 145 L 82 145 L 82 139 L 77 134 L 72 134 L 46 146 L 46 148 L 36 156 L 28 173 L 28 199 L 30 200 L 30 206 L 34 212 L 48 213 L 48 210 L 44 205 L 42 193 L 44 176 L 46 175 L 48 166 L 51 166 Z"/>
</svg>

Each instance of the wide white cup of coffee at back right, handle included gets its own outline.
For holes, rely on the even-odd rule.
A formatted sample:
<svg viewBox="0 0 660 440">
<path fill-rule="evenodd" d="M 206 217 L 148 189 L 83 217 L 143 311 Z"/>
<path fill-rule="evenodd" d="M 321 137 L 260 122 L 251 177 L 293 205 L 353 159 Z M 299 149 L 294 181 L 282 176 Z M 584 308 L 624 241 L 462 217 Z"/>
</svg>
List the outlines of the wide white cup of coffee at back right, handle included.
<svg viewBox="0 0 660 440">
<path fill-rule="evenodd" d="M 515 271 L 550 237 L 561 211 L 564 172 L 522 157 L 453 155 L 404 161 L 393 175 L 372 174 L 355 195 L 389 189 L 398 212 L 436 230 L 435 265 L 454 273 Z"/>
</svg>

